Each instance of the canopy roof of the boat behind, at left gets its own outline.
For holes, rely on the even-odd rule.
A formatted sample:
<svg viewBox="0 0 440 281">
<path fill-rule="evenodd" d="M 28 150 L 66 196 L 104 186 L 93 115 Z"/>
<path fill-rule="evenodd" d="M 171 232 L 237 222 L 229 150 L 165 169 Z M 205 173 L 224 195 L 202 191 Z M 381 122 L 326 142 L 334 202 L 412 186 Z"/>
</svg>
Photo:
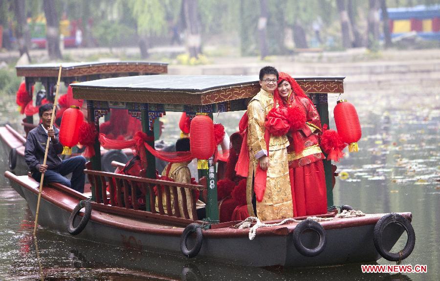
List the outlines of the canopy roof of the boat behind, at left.
<svg viewBox="0 0 440 281">
<path fill-rule="evenodd" d="M 35 78 L 57 78 L 62 65 L 61 77 L 80 77 L 97 74 L 133 73 L 164 74 L 168 71 L 167 63 L 159 62 L 81 62 L 81 63 L 49 63 L 16 66 L 17 76 Z M 96 78 L 95 78 L 96 79 Z"/>
</svg>

